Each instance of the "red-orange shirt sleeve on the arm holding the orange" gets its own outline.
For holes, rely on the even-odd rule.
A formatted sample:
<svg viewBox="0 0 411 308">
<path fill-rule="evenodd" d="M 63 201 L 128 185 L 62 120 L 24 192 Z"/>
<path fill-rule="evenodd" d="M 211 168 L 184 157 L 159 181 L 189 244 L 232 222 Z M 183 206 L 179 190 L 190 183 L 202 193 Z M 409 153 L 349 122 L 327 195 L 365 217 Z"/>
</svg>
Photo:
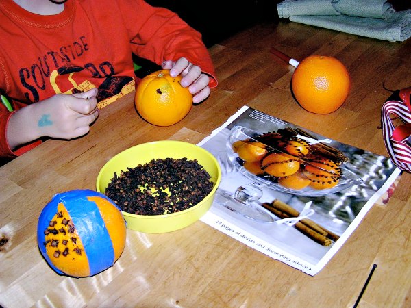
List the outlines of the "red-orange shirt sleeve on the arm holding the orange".
<svg viewBox="0 0 411 308">
<path fill-rule="evenodd" d="M 198 31 L 174 12 L 154 8 L 145 1 L 122 0 L 117 3 L 136 55 L 157 64 L 168 60 L 177 62 L 184 57 L 209 77 L 210 88 L 217 85 L 214 65 Z"/>
</svg>

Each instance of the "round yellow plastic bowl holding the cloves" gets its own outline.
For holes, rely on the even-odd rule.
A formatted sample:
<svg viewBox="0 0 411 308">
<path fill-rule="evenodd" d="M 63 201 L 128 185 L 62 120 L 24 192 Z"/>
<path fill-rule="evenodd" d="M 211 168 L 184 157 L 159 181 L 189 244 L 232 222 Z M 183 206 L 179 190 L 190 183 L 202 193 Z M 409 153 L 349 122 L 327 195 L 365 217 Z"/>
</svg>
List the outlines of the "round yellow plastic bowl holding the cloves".
<svg viewBox="0 0 411 308">
<path fill-rule="evenodd" d="M 196 222 L 210 209 L 214 194 L 221 181 L 221 168 L 216 158 L 207 150 L 187 142 L 164 140 L 148 142 L 133 146 L 110 159 L 101 168 L 97 176 L 97 192 L 105 193 L 105 188 L 114 177 L 114 172 L 120 175 L 121 171 L 127 171 L 127 167 L 134 168 L 138 164 L 145 164 L 152 159 L 184 158 L 197 159 L 210 174 L 214 187 L 197 205 L 179 211 L 177 213 L 164 215 L 136 215 L 123 211 L 123 216 L 127 221 L 127 228 L 146 232 L 164 233 L 182 229 Z"/>
</svg>

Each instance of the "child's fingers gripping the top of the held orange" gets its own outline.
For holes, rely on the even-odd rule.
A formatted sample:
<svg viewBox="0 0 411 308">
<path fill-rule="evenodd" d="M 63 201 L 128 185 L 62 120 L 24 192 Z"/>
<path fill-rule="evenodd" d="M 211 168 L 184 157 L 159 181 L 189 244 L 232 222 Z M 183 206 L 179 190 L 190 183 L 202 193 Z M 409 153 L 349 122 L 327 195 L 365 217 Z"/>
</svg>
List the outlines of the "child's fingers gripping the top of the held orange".
<svg viewBox="0 0 411 308">
<path fill-rule="evenodd" d="M 172 77 L 182 75 L 182 86 L 188 87 L 190 93 L 194 95 L 192 98 L 193 103 L 200 103 L 210 95 L 210 88 L 208 87 L 210 78 L 201 72 L 199 66 L 188 62 L 185 57 L 180 57 L 176 62 L 164 61 L 162 68 L 170 70 Z"/>
</svg>

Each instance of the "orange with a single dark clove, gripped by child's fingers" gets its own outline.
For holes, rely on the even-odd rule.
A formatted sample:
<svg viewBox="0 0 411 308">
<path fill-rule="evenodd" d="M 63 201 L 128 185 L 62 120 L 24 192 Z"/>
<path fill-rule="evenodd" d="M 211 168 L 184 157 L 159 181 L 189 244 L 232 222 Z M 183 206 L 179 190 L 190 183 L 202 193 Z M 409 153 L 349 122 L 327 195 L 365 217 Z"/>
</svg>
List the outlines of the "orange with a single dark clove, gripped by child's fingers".
<svg viewBox="0 0 411 308">
<path fill-rule="evenodd" d="M 144 77 L 136 89 L 134 103 L 140 116 L 158 126 L 182 120 L 192 107 L 192 94 L 180 84 L 182 77 L 171 77 L 169 70 L 158 70 Z"/>
</svg>

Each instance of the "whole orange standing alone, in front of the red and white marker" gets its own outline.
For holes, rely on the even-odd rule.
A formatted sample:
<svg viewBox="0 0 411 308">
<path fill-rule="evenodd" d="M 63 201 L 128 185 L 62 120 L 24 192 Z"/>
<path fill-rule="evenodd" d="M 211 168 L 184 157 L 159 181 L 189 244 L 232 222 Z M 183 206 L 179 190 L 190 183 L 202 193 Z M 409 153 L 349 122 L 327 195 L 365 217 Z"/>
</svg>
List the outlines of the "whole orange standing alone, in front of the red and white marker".
<svg viewBox="0 0 411 308">
<path fill-rule="evenodd" d="M 343 105 L 349 94 L 347 68 L 335 57 L 310 55 L 295 68 L 292 92 L 305 110 L 329 114 Z"/>
</svg>

